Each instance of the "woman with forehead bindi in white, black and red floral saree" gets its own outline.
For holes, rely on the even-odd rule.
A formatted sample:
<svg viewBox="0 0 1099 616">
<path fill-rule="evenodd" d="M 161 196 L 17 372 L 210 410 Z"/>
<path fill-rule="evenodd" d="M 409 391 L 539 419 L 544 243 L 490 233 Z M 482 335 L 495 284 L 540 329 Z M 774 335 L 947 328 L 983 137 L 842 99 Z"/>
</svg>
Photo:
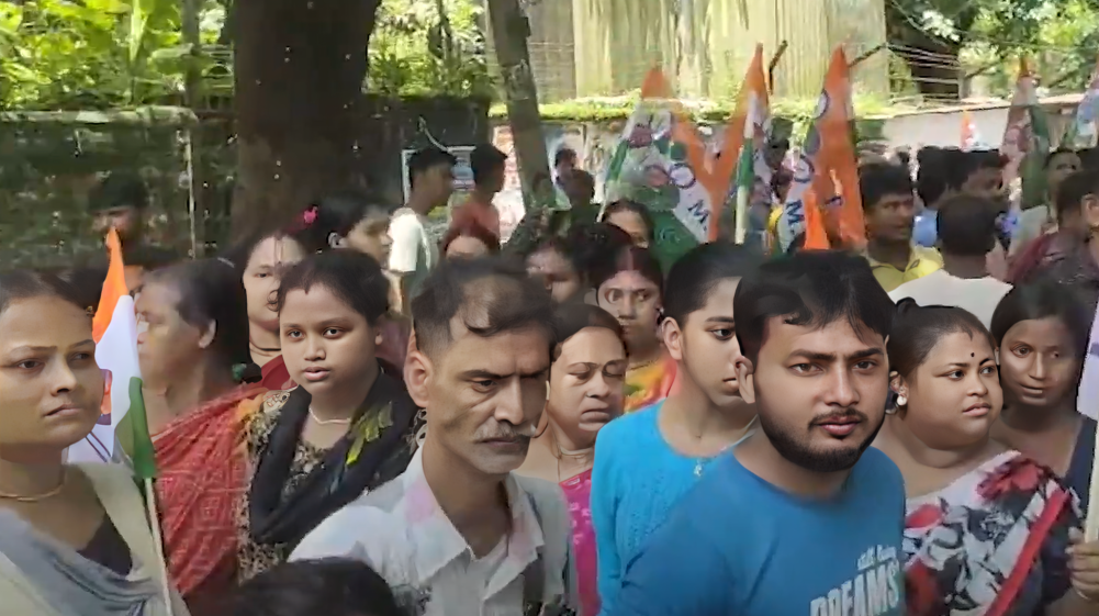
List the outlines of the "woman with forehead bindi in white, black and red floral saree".
<svg viewBox="0 0 1099 616">
<path fill-rule="evenodd" d="M 1094 613 L 1095 587 L 1076 585 L 1094 565 L 1069 553 L 1080 525 L 1073 495 L 989 437 L 1003 404 L 991 336 L 961 308 L 906 299 L 897 310 L 888 343 L 897 406 L 875 446 L 908 492 L 908 614 Z"/>
</svg>

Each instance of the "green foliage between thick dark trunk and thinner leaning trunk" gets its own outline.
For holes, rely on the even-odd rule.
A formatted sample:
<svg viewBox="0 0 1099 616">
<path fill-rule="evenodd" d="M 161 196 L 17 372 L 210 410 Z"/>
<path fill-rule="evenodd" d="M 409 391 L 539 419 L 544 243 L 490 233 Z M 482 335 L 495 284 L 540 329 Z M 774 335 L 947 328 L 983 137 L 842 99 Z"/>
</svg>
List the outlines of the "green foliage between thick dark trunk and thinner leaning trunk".
<svg viewBox="0 0 1099 616">
<path fill-rule="evenodd" d="M 491 97 L 480 19 L 473 0 L 384 0 L 370 37 L 368 89 Z"/>
</svg>

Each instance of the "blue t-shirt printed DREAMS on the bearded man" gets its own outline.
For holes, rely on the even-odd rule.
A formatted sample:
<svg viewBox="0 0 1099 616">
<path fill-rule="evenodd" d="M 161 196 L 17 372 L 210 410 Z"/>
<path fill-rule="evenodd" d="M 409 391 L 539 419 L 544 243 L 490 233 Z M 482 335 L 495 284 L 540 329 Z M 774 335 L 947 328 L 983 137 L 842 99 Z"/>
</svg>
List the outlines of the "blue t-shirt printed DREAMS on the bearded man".
<svg viewBox="0 0 1099 616">
<path fill-rule="evenodd" d="M 725 455 L 626 568 L 612 616 L 900 616 L 904 484 L 867 449 L 841 492 L 784 492 Z"/>
</svg>

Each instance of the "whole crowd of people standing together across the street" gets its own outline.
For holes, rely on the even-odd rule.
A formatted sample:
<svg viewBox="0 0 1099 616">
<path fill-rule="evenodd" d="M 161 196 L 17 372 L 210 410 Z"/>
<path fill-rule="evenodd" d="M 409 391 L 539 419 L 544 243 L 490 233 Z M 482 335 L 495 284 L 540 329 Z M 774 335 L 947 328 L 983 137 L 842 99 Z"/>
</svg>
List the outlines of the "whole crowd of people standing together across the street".
<svg viewBox="0 0 1099 616">
<path fill-rule="evenodd" d="M 917 161 L 861 167 L 865 246 L 775 254 L 776 173 L 757 241 L 671 264 L 567 151 L 559 231 L 501 241 L 481 146 L 436 242 L 428 148 L 399 209 L 333 193 L 196 261 L 112 176 L 158 474 L 66 462 L 98 265 L 0 274 L 0 613 L 1099 614 L 1099 174 L 1053 152 L 1012 216 L 999 154 Z"/>
</svg>

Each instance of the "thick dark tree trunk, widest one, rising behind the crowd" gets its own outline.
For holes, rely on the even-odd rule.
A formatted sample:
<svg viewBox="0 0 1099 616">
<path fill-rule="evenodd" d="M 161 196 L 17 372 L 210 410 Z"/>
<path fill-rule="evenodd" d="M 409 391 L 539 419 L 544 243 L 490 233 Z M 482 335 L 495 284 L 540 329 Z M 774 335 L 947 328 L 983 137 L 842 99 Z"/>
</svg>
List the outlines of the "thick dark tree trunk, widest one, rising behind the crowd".
<svg viewBox="0 0 1099 616">
<path fill-rule="evenodd" d="M 366 50 L 381 0 L 236 0 L 233 237 L 359 180 Z"/>
</svg>

